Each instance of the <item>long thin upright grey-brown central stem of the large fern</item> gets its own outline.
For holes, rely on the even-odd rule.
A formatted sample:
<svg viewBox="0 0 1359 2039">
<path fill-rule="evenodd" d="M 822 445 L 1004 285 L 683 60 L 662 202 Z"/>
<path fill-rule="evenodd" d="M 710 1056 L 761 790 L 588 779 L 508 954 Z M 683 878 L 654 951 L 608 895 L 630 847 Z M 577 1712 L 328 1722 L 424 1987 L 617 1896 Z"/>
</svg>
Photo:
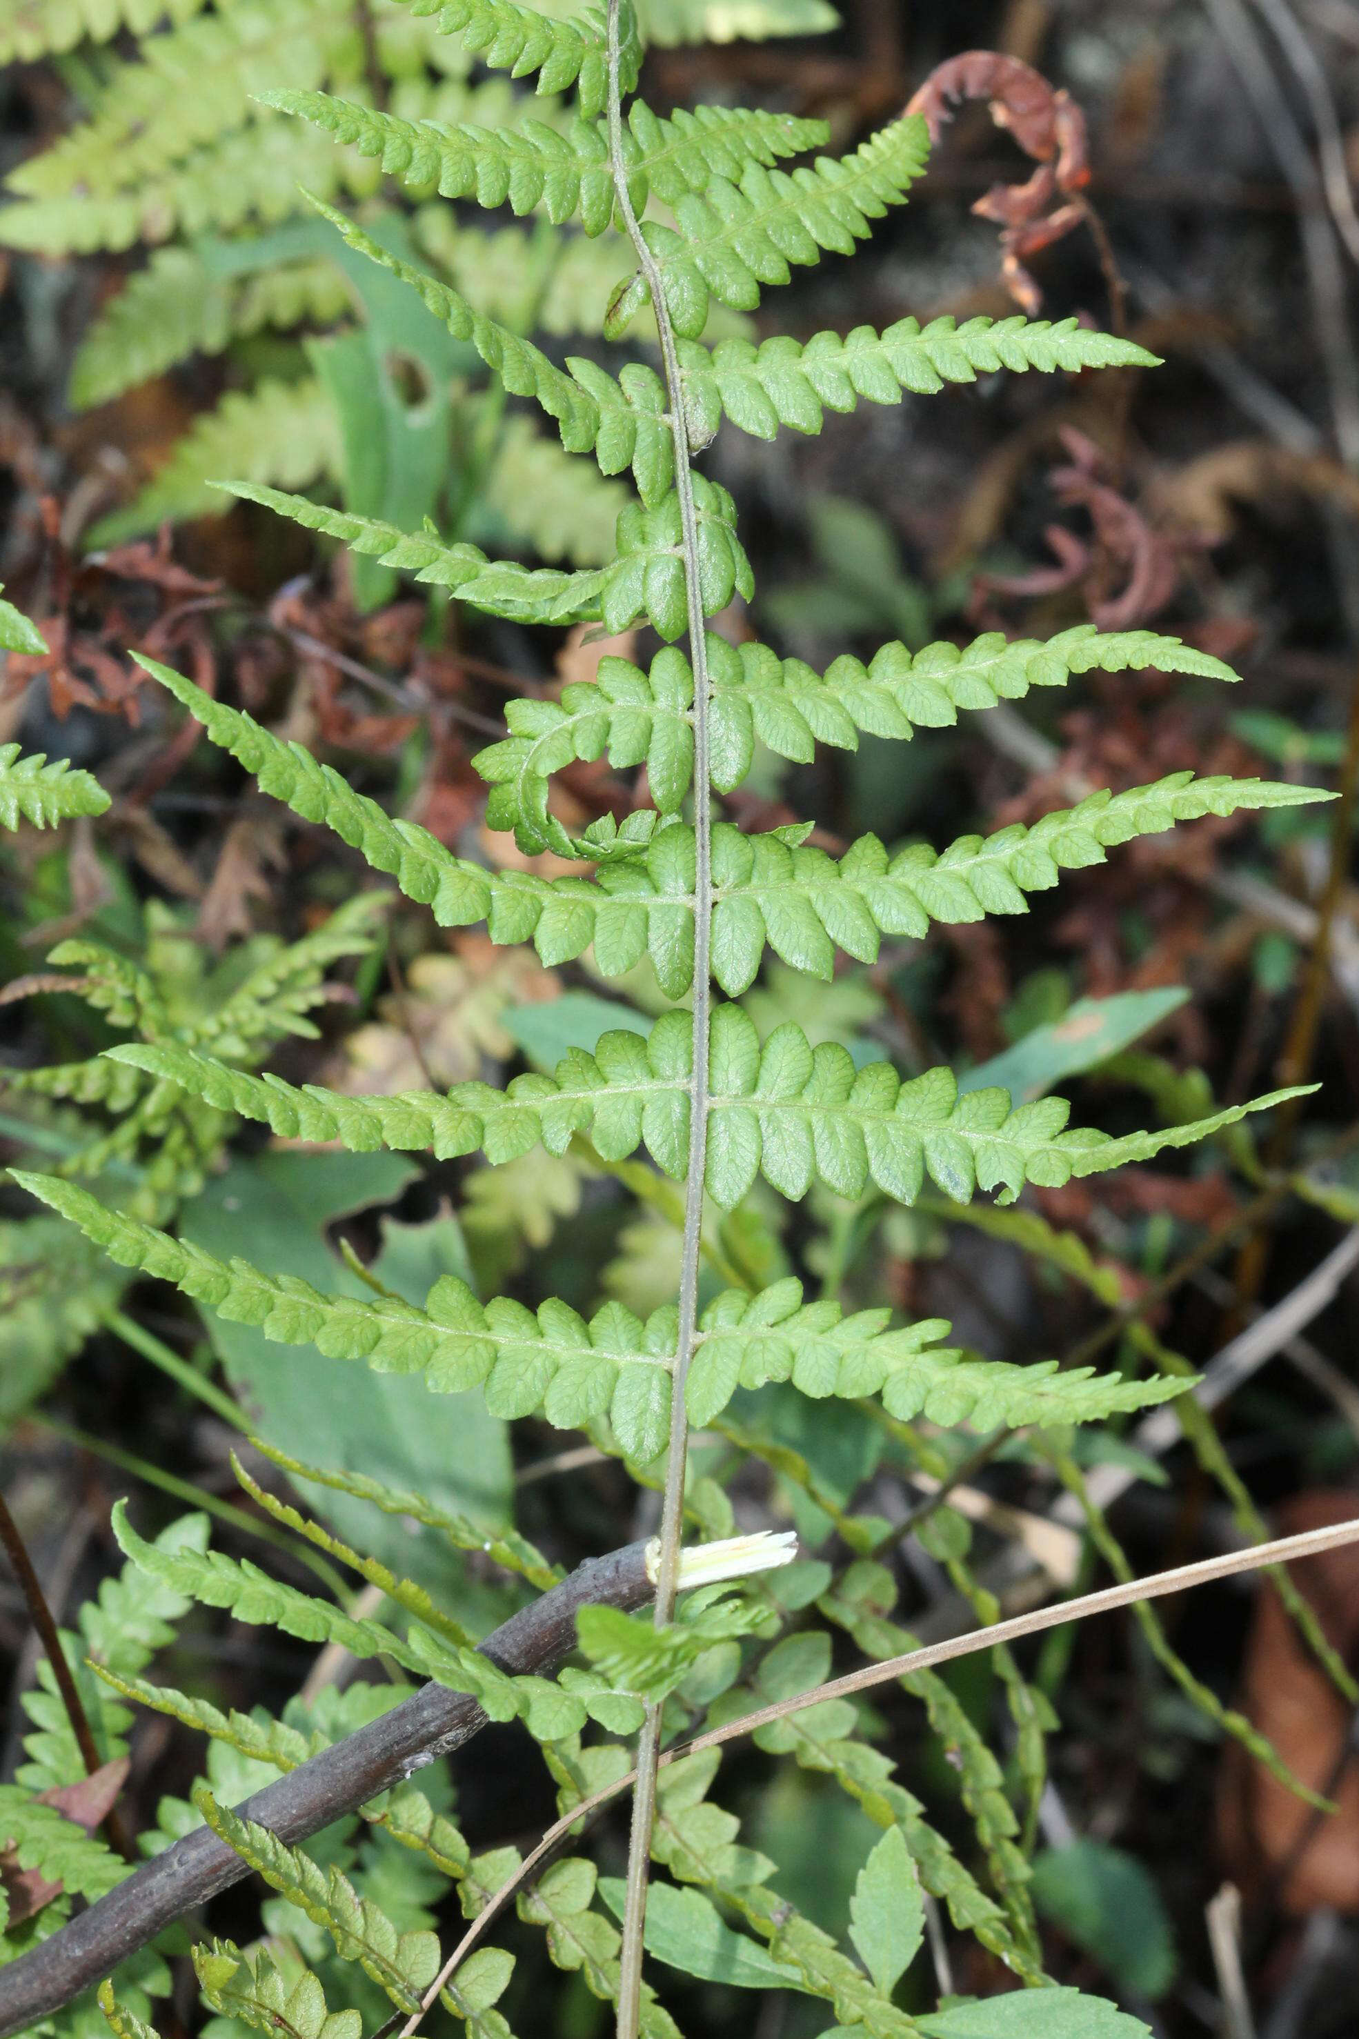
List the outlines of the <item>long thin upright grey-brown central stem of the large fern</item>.
<svg viewBox="0 0 1359 2039">
<path fill-rule="evenodd" d="M 618 80 L 620 0 L 608 0 L 608 163 L 618 212 L 637 253 L 637 267 L 651 292 L 651 310 L 661 341 L 661 365 L 669 398 L 669 430 L 675 442 L 675 495 L 684 544 L 684 591 L 690 622 L 690 665 L 694 667 L 694 1075 L 690 1079 L 690 1166 L 684 1191 L 684 1248 L 679 1260 L 679 1331 L 669 1401 L 669 1456 L 661 1505 L 661 1564 L 655 1588 L 655 1623 L 663 1627 L 675 1613 L 679 1539 L 684 1535 L 684 1468 L 688 1458 L 688 1417 L 684 1384 L 698 1331 L 698 1266 L 704 1221 L 704 1162 L 708 1154 L 708 1026 L 712 1009 L 712 797 L 708 779 L 708 638 L 698 581 L 698 514 L 690 473 L 690 440 L 684 416 L 684 383 L 675 328 L 665 302 L 661 271 L 647 247 L 628 194 L 622 155 L 622 94 Z M 649 1707 L 637 1741 L 637 1786 L 633 1790 L 633 1833 L 628 1841 L 626 1906 L 618 1972 L 618 2039 L 637 2039 L 641 2019 L 641 1957 L 651 1872 L 651 1831 L 655 1827 L 655 1780 L 661 1758 L 661 1707 Z"/>
</svg>

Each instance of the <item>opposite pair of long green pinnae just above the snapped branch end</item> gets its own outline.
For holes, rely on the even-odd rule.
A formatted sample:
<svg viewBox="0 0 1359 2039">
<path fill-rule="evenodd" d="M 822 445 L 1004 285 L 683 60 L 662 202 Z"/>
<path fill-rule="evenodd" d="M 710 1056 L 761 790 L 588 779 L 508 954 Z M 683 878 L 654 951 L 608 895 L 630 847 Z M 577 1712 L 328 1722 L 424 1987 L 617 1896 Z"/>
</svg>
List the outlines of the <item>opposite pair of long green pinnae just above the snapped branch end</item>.
<svg viewBox="0 0 1359 2039">
<path fill-rule="evenodd" d="M 484 1387 L 488 1407 L 502 1417 L 531 1415 L 541 1407 L 549 1423 L 577 1429 L 608 1415 L 622 1448 L 641 1462 L 665 1444 L 673 1360 L 669 1307 L 653 1311 L 645 1323 L 620 1303 L 606 1303 L 590 1321 L 557 1301 L 533 1315 L 504 1297 L 482 1307 L 451 1276 L 431 1289 L 424 1309 L 386 1297 L 320 1295 L 308 1283 L 269 1276 L 243 1260 L 216 1260 L 198 1246 L 106 1211 L 69 1183 L 31 1174 L 16 1174 L 16 1181 L 80 1225 L 110 1258 L 175 1283 L 229 1321 L 257 1325 L 269 1340 L 314 1344 L 329 1358 L 365 1360 L 380 1372 L 422 1372 L 439 1393 Z M 1059 1374 L 1049 1364 L 977 1360 L 939 1346 L 947 1331 L 949 1325 L 937 1319 L 888 1329 L 888 1311 L 882 1309 L 843 1317 L 839 1303 L 804 1305 L 796 1280 L 775 1283 L 755 1297 L 731 1289 L 702 1317 L 688 1378 L 690 1417 L 706 1423 L 739 1387 L 755 1389 L 765 1380 L 792 1380 L 816 1399 L 882 1395 L 892 1415 L 924 1413 L 939 1423 L 971 1421 L 977 1427 L 1081 1423 L 1179 1393 L 1179 1382 L 1167 1380 L 1102 1378 L 1084 1370 Z M 316 1474 L 298 1466 L 298 1476 Z M 324 1478 L 337 1480 L 333 1474 Z M 365 1497 L 373 1499 L 371 1493 Z M 516 1568 L 522 1570 L 522 1562 Z M 245 1590 L 231 1560 L 218 1558 L 194 1556 L 171 1582 L 204 1597 L 202 1582 L 218 1574 L 224 1580 L 220 1590 Z M 304 1594 L 298 1599 L 304 1615 L 296 1619 L 320 1619 L 312 1611 L 322 1603 Z M 324 1619 L 333 1613 L 326 1607 Z M 237 1615 L 251 1619 L 239 1607 Z M 377 1633 L 386 1648 L 388 1631 Z M 367 1648 L 357 1654 L 371 1656 L 373 1639 L 365 1635 Z"/>
</svg>

